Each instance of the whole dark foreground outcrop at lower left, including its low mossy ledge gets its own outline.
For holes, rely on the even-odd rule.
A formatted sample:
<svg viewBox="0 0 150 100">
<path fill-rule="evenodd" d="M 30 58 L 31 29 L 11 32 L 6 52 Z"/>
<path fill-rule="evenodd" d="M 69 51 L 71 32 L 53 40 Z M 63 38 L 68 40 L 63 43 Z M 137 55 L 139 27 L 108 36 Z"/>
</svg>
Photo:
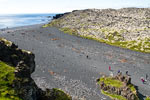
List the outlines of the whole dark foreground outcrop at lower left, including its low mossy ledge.
<svg viewBox="0 0 150 100">
<path fill-rule="evenodd" d="M 4 68 L 4 64 L 13 66 L 14 75 L 11 78 L 13 82 L 7 85 L 6 88 L 12 88 L 15 96 L 18 96 L 21 100 L 71 100 L 67 94 L 59 89 L 47 89 L 46 91 L 41 90 L 37 87 L 34 80 L 31 78 L 31 74 L 35 70 L 35 55 L 30 51 L 25 51 L 19 49 L 14 43 L 7 41 L 6 39 L 0 38 L 0 64 L 1 68 Z M 7 70 L 3 70 L 7 73 Z M 0 71 L 0 76 L 2 76 Z M 8 80 L 7 76 L 0 77 L 0 82 L 6 83 Z M 1 84 L 0 84 L 1 85 Z M 3 84 L 2 84 L 3 85 Z M 3 88 L 3 86 L 0 86 Z M 6 92 L 4 95 L 2 92 Z M 13 98 L 12 93 L 7 93 L 8 91 L 0 91 L 0 96 L 6 96 L 6 98 Z M 12 100 L 20 100 L 12 99 Z M 9 100 L 9 99 L 8 99 Z"/>
</svg>

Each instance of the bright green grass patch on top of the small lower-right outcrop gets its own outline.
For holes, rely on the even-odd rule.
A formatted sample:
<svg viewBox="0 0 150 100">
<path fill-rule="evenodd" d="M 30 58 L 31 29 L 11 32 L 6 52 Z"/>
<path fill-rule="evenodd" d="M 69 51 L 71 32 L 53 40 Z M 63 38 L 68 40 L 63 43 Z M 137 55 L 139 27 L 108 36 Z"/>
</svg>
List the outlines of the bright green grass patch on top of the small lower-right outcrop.
<svg viewBox="0 0 150 100">
<path fill-rule="evenodd" d="M 120 88 L 123 86 L 122 82 L 120 82 L 119 80 L 113 79 L 112 77 L 101 77 L 100 82 L 104 82 L 107 86 L 114 86 L 117 88 Z"/>
</svg>

